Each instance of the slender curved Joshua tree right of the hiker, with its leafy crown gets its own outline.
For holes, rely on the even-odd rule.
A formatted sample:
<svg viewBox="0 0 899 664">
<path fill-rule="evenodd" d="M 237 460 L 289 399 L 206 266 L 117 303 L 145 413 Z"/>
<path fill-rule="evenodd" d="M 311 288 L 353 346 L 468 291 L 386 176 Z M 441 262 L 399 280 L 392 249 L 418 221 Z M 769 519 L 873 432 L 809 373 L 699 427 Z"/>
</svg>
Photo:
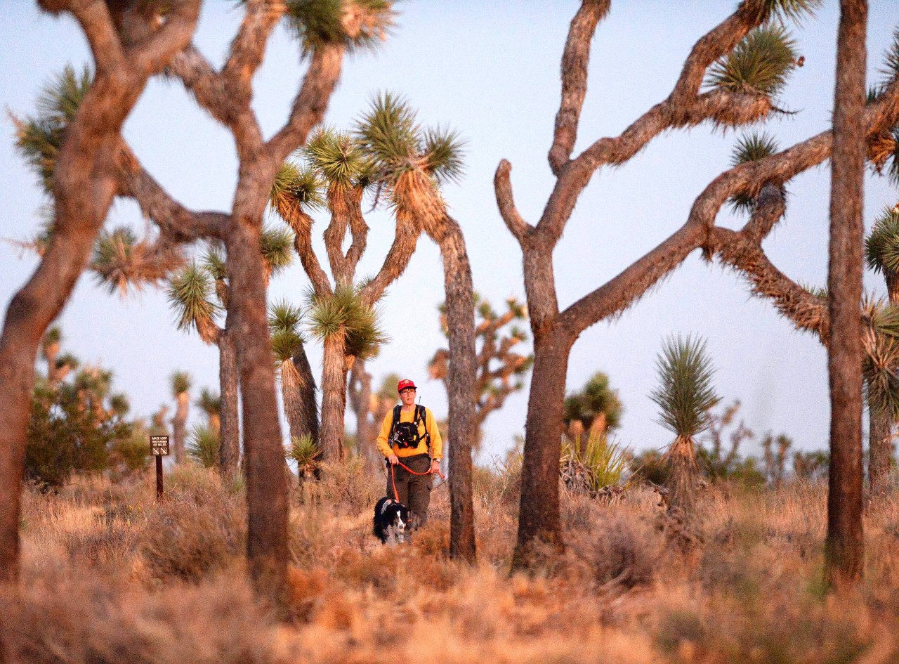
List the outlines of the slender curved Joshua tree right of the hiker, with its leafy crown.
<svg viewBox="0 0 899 664">
<path fill-rule="evenodd" d="M 474 561 L 475 517 L 471 450 L 476 440 L 475 301 L 471 265 L 458 221 L 449 216 L 440 184 L 461 175 L 461 143 L 449 130 L 424 130 L 401 100 L 378 97 L 358 128 L 378 165 L 397 221 L 421 226 L 441 249 L 449 330 L 449 554 Z"/>
</svg>

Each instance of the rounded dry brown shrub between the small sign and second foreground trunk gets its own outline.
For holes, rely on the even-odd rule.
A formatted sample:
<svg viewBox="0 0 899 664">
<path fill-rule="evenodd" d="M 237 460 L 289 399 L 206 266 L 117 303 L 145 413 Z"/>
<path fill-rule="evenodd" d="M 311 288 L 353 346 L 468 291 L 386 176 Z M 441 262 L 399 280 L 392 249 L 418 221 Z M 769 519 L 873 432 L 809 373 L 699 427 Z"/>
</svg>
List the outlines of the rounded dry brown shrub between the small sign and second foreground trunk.
<svg viewBox="0 0 899 664">
<path fill-rule="evenodd" d="M 156 579 L 198 581 L 244 552 L 244 501 L 213 471 L 179 468 L 151 513 L 141 555 Z"/>
</svg>

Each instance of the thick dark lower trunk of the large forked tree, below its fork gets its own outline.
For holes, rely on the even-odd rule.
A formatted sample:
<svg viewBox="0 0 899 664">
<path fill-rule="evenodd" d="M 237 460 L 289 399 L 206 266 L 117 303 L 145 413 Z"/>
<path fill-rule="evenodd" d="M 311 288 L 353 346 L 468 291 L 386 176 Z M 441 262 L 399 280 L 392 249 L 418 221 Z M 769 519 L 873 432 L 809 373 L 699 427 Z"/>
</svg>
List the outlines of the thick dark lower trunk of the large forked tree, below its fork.
<svg viewBox="0 0 899 664">
<path fill-rule="evenodd" d="M 530 377 L 518 543 L 512 570 L 530 567 L 534 544 L 562 547 L 559 522 L 559 458 L 562 452 L 562 407 L 565 375 L 573 342 L 550 328 L 534 337 L 534 371 Z"/>
</svg>

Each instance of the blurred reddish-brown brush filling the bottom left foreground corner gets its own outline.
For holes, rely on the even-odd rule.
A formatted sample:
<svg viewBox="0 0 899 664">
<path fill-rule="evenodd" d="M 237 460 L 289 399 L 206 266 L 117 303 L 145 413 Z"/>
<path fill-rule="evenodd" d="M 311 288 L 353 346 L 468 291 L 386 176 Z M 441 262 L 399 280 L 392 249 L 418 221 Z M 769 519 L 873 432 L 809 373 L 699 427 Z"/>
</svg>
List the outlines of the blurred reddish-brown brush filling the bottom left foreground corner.
<svg viewBox="0 0 899 664">
<path fill-rule="evenodd" d="M 5 650 L 11 664 L 294 660 L 242 578 L 175 584 L 154 593 L 78 569 L 31 573 L 24 580 L 19 597 L 0 595 L 0 654 Z"/>
</svg>

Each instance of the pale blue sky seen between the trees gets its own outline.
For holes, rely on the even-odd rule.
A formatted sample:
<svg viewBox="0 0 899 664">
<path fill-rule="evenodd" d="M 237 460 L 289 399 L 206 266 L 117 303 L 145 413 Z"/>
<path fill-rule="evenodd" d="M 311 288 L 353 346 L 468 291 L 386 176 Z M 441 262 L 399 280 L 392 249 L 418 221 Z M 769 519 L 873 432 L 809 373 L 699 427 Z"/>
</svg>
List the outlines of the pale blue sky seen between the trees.
<svg viewBox="0 0 899 664">
<path fill-rule="evenodd" d="M 806 66 L 798 69 L 782 105 L 798 111 L 770 122 L 782 146 L 827 128 L 832 106 L 834 2 L 794 29 Z M 729 0 L 613 2 L 593 41 L 589 90 L 580 139 L 583 149 L 615 135 L 668 94 L 690 46 L 733 11 Z M 236 30 L 236 3 L 207 0 L 197 42 L 219 62 Z M 467 139 L 467 172 L 446 198 L 466 233 L 476 289 L 497 304 L 523 298 L 521 253 L 503 226 L 493 195 L 494 169 L 512 162 L 512 184 L 522 215 L 539 218 L 553 184 L 546 154 L 558 103 L 559 59 L 575 2 L 467 2 L 408 0 L 394 35 L 375 55 L 349 58 L 327 121 L 347 126 L 372 94 L 405 94 L 426 124 L 449 125 Z M 0 9 L 0 103 L 31 112 L 47 78 L 66 63 L 87 58 L 75 23 L 41 14 L 31 0 L 5 0 Z M 895 3 L 874 2 L 869 30 L 869 71 L 877 76 L 896 22 Z M 255 80 L 254 106 L 263 129 L 286 118 L 303 67 L 286 31 L 278 31 Z M 27 237 L 42 202 L 34 177 L 13 150 L 13 127 L 4 120 L 0 141 L 0 235 Z M 194 208 L 227 210 L 236 160 L 227 132 L 200 112 L 179 85 L 156 81 L 129 118 L 125 136 L 168 190 Z M 677 229 L 690 204 L 728 165 L 738 133 L 702 127 L 656 139 L 628 165 L 602 171 L 583 193 L 556 249 L 562 306 L 618 274 Z M 823 284 L 827 264 L 829 169 L 819 167 L 789 185 L 787 219 L 766 243 L 772 260 L 794 279 Z M 866 223 L 893 205 L 897 194 L 885 179 L 868 178 Z M 142 225 L 135 207 L 117 203 L 110 223 Z M 733 224 L 724 211 L 719 223 Z M 369 250 L 360 274 L 374 272 L 390 241 L 386 215 L 370 215 Z M 322 226 L 316 233 L 324 230 Z M 423 403 L 445 414 L 442 387 L 426 380 L 426 363 L 443 343 L 436 305 L 442 299 L 439 253 L 426 238 L 409 269 L 384 301 L 384 326 L 393 338 L 371 363 L 378 382 L 399 372 L 420 385 Z M 0 245 L 0 306 L 5 307 L 36 261 Z M 295 265 L 271 285 L 271 297 L 300 302 L 307 279 Z M 868 286 L 882 291 L 868 275 Z M 177 332 L 160 292 L 121 301 L 85 275 L 64 311 L 66 349 L 115 372 L 116 388 L 129 394 L 134 412 L 147 415 L 168 401 L 167 377 L 191 372 L 198 386 L 217 382 L 217 354 L 196 336 Z M 568 387 L 592 372 L 610 374 L 625 404 L 619 438 L 635 448 L 660 447 L 670 436 L 655 423 L 648 398 L 655 384 L 655 356 L 664 336 L 699 333 L 718 367 L 717 389 L 741 399 L 743 417 L 759 433 L 773 430 L 797 445 L 826 445 L 829 426 L 826 359 L 813 336 L 779 319 L 765 301 L 750 299 L 741 280 L 697 254 L 620 319 L 587 330 L 574 346 Z M 318 371 L 320 349 L 310 345 Z M 527 391 L 509 399 L 485 429 L 485 457 L 502 451 L 523 432 Z M 348 418 L 354 426 L 352 418 Z M 753 452 L 749 447 L 745 452 Z"/>
</svg>

